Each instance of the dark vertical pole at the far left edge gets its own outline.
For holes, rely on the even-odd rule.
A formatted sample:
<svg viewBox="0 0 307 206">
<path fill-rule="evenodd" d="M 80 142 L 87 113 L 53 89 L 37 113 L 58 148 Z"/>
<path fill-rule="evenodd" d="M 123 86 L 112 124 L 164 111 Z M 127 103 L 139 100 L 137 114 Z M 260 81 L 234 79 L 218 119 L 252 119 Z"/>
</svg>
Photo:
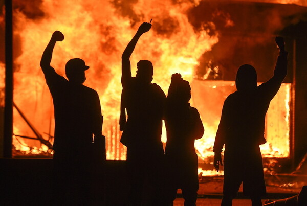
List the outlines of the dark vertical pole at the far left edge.
<svg viewBox="0 0 307 206">
<path fill-rule="evenodd" d="M 5 108 L 3 157 L 12 157 L 13 134 L 13 15 L 12 0 L 5 0 Z"/>
</svg>

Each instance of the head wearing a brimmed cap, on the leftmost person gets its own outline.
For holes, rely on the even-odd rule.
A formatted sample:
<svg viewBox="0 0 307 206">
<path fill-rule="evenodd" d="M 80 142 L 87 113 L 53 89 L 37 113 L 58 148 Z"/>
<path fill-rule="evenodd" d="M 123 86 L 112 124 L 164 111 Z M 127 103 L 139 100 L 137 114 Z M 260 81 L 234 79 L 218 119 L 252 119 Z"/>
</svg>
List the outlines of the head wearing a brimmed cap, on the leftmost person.
<svg viewBox="0 0 307 206">
<path fill-rule="evenodd" d="M 90 66 L 86 66 L 82 59 L 70 59 L 65 65 L 65 73 L 70 82 L 82 84 L 85 80 L 85 70 Z"/>
</svg>

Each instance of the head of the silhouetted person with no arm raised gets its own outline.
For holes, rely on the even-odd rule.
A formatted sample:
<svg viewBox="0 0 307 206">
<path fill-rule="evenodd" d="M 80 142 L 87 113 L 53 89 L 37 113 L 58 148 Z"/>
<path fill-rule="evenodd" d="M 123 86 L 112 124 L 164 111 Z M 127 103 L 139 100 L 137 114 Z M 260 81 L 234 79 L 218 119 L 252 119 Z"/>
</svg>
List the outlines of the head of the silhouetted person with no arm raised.
<svg viewBox="0 0 307 206">
<path fill-rule="evenodd" d="M 179 104 L 189 103 L 191 99 L 190 84 L 188 81 L 183 80 L 181 75 L 178 73 L 171 76 L 167 99 Z"/>
</svg>

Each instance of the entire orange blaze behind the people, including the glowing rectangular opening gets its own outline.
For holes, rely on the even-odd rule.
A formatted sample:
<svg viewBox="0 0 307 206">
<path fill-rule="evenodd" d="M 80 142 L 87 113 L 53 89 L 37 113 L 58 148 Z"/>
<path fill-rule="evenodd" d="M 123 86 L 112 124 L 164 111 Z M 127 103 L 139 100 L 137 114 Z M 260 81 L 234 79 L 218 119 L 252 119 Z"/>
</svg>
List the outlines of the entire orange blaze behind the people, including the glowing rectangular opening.
<svg viewBox="0 0 307 206">
<path fill-rule="evenodd" d="M 222 105 L 235 90 L 235 85 L 231 81 L 193 78 L 201 55 L 211 50 L 220 35 L 216 31 L 209 35 L 212 31 L 206 25 L 195 30 L 190 24 L 187 11 L 199 2 L 43 0 L 39 4 L 42 14 L 36 18 L 14 10 L 14 35 L 21 41 L 20 55 L 14 61 L 14 102 L 43 138 L 49 140 L 54 129 L 53 105 L 39 61 L 52 33 L 61 31 L 65 39 L 56 44 L 51 64 L 63 76 L 64 65 L 71 58 L 80 57 L 90 66 L 85 85 L 97 90 L 100 96 L 107 159 L 125 159 L 126 149 L 119 143 L 121 132 L 118 125 L 122 89 L 121 54 L 141 22 L 153 19 L 151 31 L 141 37 L 131 57 L 133 75 L 137 62 L 148 59 L 154 66 L 153 82 L 158 83 L 166 94 L 173 73 L 181 73 L 184 79 L 190 81 L 191 104 L 199 109 L 205 127 L 205 134 L 195 142 L 195 148 L 200 159 L 212 156 Z M 267 2 L 299 3 L 295 0 Z M 214 25 L 210 28 L 214 29 Z M 3 64 L 0 64 L 0 71 L 4 71 Z M 0 87 L 4 85 L 0 84 Z M 268 143 L 261 146 L 265 156 L 289 156 L 290 90 L 291 84 L 283 84 L 271 103 L 266 120 Z M 13 133 L 33 136 L 16 110 Z M 163 142 L 166 142 L 165 133 L 164 129 Z M 25 153 L 48 150 L 39 141 L 15 135 L 13 144 L 16 150 Z"/>
</svg>

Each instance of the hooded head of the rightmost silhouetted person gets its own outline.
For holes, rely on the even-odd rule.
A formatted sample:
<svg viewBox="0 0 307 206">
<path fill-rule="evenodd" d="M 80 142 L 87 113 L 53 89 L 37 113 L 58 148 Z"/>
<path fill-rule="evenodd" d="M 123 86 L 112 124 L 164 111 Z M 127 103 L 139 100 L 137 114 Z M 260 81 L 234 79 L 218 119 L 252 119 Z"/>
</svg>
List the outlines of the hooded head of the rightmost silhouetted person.
<svg viewBox="0 0 307 206">
<path fill-rule="evenodd" d="M 244 64 L 238 68 L 235 85 L 237 90 L 247 91 L 257 87 L 257 72 L 249 64 Z"/>
</svg>

